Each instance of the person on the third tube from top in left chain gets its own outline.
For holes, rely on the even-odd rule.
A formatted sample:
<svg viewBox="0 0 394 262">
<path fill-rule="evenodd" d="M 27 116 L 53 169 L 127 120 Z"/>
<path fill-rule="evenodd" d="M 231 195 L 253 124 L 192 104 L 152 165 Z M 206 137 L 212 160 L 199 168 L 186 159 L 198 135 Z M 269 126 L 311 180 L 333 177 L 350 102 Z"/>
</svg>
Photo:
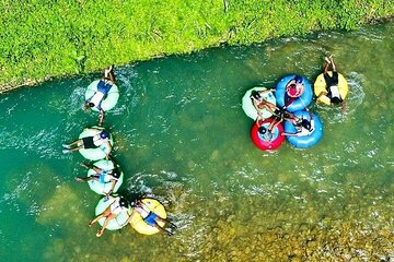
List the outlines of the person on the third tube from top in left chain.
<svg viewBox="0 0 394 262">
<path fill-rule="evenodd" d="M 94 170 L 95 174 L 93 174 L 90 177 L 84 177 L 84 178 L 76 177 L 76 180 L 78 182 L 88 182 L 90 180 L 96 180 L 96 181 L 99 181 L 101 183 L 111 182 L 111 189 L 106 194 L 108 195 L 114 191 L 116 182 L 119 180 L 119 177 L 120 177 L 120 174 L 121 174 L 121 171 L 119 170 L 118 165 L 115 165 L 114 169 L 112 169 L 112 170 L 106 170 L 104 168 L 100 168 L 100 167 L 96 167 L 94 165 L 89 165 L 89 164 L 85 164 L 85 163 L 81 163 L 80 165 L 82 167 L 88 168 L 88 169 Z"/>
</svg>

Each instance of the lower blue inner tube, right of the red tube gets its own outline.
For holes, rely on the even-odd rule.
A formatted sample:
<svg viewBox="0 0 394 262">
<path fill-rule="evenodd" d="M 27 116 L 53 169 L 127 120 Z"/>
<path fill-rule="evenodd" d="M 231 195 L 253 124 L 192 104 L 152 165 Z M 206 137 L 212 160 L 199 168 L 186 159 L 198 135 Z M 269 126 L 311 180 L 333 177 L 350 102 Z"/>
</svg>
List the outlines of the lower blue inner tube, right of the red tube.
<svg viewBox="0 0 394 262">
<path fill-rule="evenodd" d="M 312 114 L 314 119 L 314 130 L 310 135 L 296 136 L 296 135 L 286 135 L 290 144 L 299 148 L 308 148 L 316 144 L 323 136 L 323 123 L 316 114 Z M 298 118 L 303 118 L 311 120 L 311 117 L 306 110 L 300 110 L 294 112 L 294 116 Z M 297 130 L 292 122 L 285 121 L 285 132 L 296 133 Z"/>
</svg>

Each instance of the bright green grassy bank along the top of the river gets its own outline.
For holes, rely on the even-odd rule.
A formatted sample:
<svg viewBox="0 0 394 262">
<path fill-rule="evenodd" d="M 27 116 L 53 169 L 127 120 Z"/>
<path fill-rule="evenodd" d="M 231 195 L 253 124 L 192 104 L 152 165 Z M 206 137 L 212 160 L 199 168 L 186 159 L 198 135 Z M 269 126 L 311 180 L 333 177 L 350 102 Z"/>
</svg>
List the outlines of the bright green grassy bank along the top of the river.
<svg viewBox="0 0 394 262">
<path fill-rule="evenodd" d="M 219 45 L 393 21 L 391 0 L 4 0 L 0 94 Z"/>
</svg>

